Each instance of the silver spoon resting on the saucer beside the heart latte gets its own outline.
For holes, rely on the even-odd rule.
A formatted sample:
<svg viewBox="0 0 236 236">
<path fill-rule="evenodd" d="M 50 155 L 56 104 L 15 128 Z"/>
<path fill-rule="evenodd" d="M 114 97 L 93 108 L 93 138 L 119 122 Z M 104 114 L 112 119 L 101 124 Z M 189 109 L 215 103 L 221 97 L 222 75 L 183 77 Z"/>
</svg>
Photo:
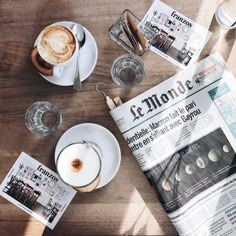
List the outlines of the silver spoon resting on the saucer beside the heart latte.
<svg viewBox="0 0 236 236">
<path fill-rule="evenodd" d="M 83 27 L 79 24 L 74 24 L 71 30 L 76 36 L 79 49 L 81 49 L 84 46 L 85 39 L 86 39 Z M 79 55 L 77 55 L 76 57 L 74 89 L 77 91 L 82 89 L 82 83 L 81 83 L 80 74 L 79 74 Z"/>
</svg>

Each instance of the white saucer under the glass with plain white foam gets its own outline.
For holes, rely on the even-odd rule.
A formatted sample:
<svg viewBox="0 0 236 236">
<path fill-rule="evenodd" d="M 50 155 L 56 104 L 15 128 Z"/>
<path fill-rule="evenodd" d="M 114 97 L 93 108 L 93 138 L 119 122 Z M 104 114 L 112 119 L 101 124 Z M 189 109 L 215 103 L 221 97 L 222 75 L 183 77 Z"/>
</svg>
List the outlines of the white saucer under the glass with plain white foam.
<svg viewBox="0 0 236 236">
<path fill-rule="evenodd" d="M 114 135 L 103 126 L 83 123 L 68 129 L 59 139 L 55 149 L 55 162 L 60 151 L 75 142 L 90 141 L 96 143 L 102 151 L 101 182 L 98 188 L 108 184 L 116 175 L 121 161 L 119 143 Z"/>
</svg>

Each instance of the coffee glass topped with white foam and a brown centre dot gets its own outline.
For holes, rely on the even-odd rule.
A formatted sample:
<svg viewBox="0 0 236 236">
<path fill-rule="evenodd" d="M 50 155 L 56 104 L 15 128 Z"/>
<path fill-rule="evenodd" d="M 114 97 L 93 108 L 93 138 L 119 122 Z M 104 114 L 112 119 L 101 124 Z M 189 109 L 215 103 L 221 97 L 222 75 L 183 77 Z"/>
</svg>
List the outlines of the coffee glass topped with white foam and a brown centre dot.
<svg viewBox="0 0 236 236">
<path fill-rule="evenodd" d="M 95 143 L 72 143 L 56 159 L 58 175 L 77 191 L 91 192 L 100 183 L 101 157 L 102 152 Z"/>
</svg>

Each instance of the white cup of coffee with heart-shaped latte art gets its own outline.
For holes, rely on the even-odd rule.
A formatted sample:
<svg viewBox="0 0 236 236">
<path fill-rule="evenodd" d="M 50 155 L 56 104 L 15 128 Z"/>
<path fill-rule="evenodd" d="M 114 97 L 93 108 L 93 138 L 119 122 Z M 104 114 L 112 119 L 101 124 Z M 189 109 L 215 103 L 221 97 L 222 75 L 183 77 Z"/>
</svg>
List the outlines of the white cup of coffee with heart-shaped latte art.
<svg viewBox="0 0 236 236">
<path fill-rule="evenodd" d="M 79 53 L 76 36 L 70 28 L 52 24 L 44 28 L 36 39 L 31 59 L 39 72 L 60 77 Z"/>
</svg>

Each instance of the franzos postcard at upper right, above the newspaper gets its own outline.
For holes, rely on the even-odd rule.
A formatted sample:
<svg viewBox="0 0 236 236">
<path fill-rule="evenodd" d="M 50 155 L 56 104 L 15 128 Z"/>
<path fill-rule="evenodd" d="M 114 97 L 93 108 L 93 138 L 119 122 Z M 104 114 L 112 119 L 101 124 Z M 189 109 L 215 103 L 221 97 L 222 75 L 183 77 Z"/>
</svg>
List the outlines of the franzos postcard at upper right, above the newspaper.
<svg viewBox="0 0 236 236">
<path fill-rule="evenodd" d="M 150 49 L 182 69 L 197 61 L 211 36 L 207 29 L 159 0 L 142 21 L 157 34 Z"/>
</svg>

